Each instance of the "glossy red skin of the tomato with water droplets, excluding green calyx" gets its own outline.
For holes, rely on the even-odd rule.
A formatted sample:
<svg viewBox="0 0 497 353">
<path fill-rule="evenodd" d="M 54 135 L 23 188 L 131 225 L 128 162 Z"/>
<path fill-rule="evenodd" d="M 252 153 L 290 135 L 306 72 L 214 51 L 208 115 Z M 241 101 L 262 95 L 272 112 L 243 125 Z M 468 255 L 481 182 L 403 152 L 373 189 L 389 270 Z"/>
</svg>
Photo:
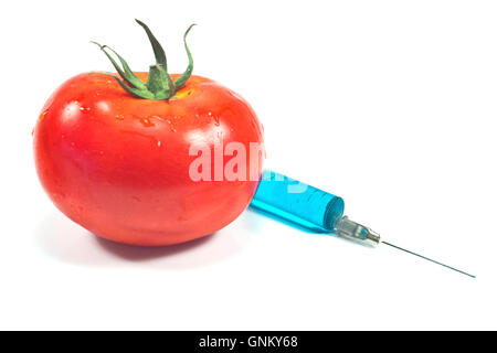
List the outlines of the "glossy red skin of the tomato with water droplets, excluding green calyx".
<svg viewBox="0 0 497 353">
<path fill-rule="evenodd" d="M 202 237 L 235 220 L 257 181 L 192 181 L 189 148 L 202 141 L 213 150 L 222 135 L 248 151 L 263 142 L 262 126 L 243 98 L 211 79 L 191 76 L 177 96 L 135 98 L 99 73 L 64 83 L 33 132 L 36 171 L 53 203 L 101 237 L 144 246 Z M 261 164 L 251 167 L 261 175 Z"/>
</svg>

